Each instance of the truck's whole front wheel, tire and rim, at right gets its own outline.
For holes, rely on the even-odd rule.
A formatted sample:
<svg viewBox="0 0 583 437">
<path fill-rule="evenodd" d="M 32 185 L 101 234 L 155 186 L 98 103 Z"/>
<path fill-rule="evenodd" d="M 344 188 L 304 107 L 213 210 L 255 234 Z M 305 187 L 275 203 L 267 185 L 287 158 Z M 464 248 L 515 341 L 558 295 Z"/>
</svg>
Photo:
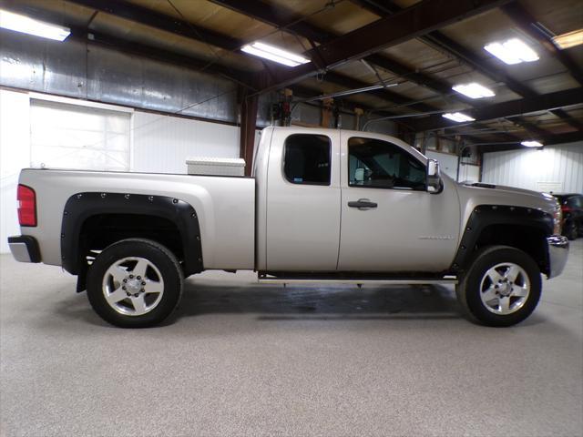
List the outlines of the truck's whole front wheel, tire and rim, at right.
<svg viewBox="0 0 583 437">
<path fill-rule="evenodd" d="M 455 292 L 471 320 L 488 326 L 515 325 L 537 308 L 540 270 L 522 250 L 491 246 L 476 254 Z"/>
</svg>

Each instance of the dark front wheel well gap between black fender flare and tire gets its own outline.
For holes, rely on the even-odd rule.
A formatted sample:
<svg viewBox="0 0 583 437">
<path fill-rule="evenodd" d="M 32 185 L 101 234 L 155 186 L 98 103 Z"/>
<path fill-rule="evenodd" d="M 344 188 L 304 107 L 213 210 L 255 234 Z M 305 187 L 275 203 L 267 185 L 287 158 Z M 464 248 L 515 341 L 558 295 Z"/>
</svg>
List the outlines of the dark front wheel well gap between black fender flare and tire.
<svg viewBox="0 0 583 437">
<path fill-rule="evenodd" d="M 535 260 L 542 273 L 549 273 L 547 235 L 542 229 L 508 224 L 490 225 L 480 233 L 475 249 L 493 245 L 520 249 Z"/>
</svg>

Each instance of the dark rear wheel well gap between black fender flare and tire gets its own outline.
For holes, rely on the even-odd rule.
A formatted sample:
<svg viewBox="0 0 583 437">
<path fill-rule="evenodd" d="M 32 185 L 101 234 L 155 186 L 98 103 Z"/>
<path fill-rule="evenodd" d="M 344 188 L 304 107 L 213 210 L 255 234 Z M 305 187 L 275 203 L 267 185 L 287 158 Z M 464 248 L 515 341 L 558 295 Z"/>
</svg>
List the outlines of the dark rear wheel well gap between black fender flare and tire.
<svg viewBox="0 0 583 437">
<path fill-rule="evenodd" d="M 166 246 L 180 261 L 184 248 L 178 226 L 146 214 L 98 214 L 83 222 L 79 233 L 79 255 L 89 262 L 96 252 L 121 239 L 152 239 Z"/>
</svg>

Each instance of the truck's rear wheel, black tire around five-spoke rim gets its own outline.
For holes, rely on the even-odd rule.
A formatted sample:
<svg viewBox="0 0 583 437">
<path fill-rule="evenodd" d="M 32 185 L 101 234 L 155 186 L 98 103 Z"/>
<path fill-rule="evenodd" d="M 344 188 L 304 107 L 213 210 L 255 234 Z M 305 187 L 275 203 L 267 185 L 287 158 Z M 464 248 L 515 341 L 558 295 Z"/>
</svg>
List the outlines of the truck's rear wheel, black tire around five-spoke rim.
<svg viewBox="0 0 583 437">
<path fill-rule="evenodd" d="M 128 260 L 124 261 L 125 259 Z M 140 259 L 147 261 L 148 268 L 144 271 L 148 271 L 148 273 L 144 274 L 144 279 L 140 279 L 139 276 L 137 278 L 148 281 L 148 286 L 150 279 L 147 279 L 147 276 L 153 278 L 151 285 L 158 286 L 157 288 L 162 291 L 149 293 L 146 282 L 132 283 L 131 287 L 144 285 L 141 292 L 145 294 L 142 297 L 140 290 L 130 289 L 130 284 L 126 282 L 128 289 L 124 288 L 123 292 L 128 293 L 128 298 L 122 296 L 123 300 L 112 304 L 108 303 L 106 294 L 112 296 L 113 291 L 110 294 L 109 289 L 106 290 L 106 284 L 118 284 L 111 286 L 111 289 L 117 289 L 115 291 L 118 292 L 121 292 L 123 285 L 120 281 L 114 282 L 115 279 L 110 273 L 113 271 L 112 269 L 115 267 L 115 272 L 123 272 L 124 269 L 127 269 L 129 275 L 133 273 L 133 269 L 137 269 L 137 263 Z M 122 263 L 120 267 L 118 267 L 119 262 Z M 136 263 L 136 267 L 132 268 L 132 262 Z M 159 324 L 176 309 L 182 295 L 183 279 L 179 261 L 169 249 L 149 239 L 123 239 L 104 249 L 89 268 L 87 272 L 87 298 L 99 317 L 108 323 L 120 328 L 147 328 Z M 128 277 L 123 280 L 127 281 Z M 135 282 L 137 279 L 129 280 Z M 136 294 L 131 294 L 130 291 L 131 293 L 136 291 Z M 136 301 L 144 300 L 144 307 L 140 308 L 139 311 L 147 312 L 143 314 L 138 312 L 138 307 L 133 303 L 134 297 Z M 150 309 L 148 309 L 148 305 Z M 131 314 L 132 312 L 134 314 Z"/>
</svg>

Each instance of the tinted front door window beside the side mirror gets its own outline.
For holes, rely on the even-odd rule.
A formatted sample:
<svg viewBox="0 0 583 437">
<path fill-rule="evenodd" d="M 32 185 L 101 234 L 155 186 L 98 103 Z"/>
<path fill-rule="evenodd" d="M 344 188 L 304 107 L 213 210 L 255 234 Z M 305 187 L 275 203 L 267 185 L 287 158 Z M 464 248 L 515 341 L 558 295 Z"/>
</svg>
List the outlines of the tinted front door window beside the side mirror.
<svg viewBox="0 0 583 437">
<path fill-rule="evenodd" d="M 401 147 L 375 138 L 348 140 L 351 187 L 425 189 L 425 167 Z"/>
</svg>

